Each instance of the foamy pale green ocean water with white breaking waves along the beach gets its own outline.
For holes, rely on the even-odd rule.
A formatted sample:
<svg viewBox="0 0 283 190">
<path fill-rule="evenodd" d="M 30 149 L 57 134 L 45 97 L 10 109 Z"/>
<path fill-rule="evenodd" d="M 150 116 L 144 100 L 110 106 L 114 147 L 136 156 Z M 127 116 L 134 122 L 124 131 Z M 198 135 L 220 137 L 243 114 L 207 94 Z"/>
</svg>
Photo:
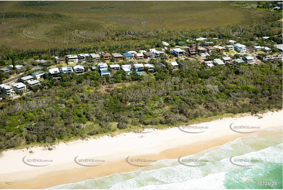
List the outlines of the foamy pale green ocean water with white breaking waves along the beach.
<svg viewBox="0 0 283 190">
<path fill-rule="evenodd" d="M 255 159 L 259 162 L 230 162 Z M 56 189 L 282 189 L 282 128 L 252 133 L 224 145 L 182 159 L 208 160 L 203 166 L 189 167 L 177 159 L 159 160 L 136 171 L 115 173 L 77 183 L 58 185 Z M 232 161 L 233 161 L 232 159 Z M 199 163 L 186 163 L 201 165 Z M 260 186 L 258 182 L 270 182 Z M 276 182 L 276 186 L 271 186 Z"/>
</svg>

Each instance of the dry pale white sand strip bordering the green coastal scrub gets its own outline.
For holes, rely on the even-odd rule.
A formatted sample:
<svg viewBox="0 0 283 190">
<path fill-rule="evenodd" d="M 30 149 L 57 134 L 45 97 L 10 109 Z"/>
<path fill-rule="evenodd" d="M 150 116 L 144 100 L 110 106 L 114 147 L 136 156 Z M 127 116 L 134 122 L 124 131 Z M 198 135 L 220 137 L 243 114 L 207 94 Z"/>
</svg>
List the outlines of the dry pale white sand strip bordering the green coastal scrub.
<svg viewBox="0 0 283 190">
<path fill-rule="evenodd" d="M 257 131 L 270 127 L 282 127 L 282 110 L 265 113 L 263 118 L 252 116 L 239 118 L 223 118 L 221 120 L 195 124 L 193 126 L 208 126 L 208 129 L 183 129 L 203 133 L 184 133 L 177 127 L 166 130 L 154 130 L 151 133 L 123 133 L 115 137 L 103 136 L 88 140 L 78 140 L 68 143 L 61 142 L 49 151 L 47 147 L 34 146 L 31 148 L 10 149 L 2 152 L 0 158 L 0 181 L 24 180 L 45 174 L 50 171 L 81 168 L 74 162 L 74 158 L 94 158 L 105 160 L 105 164 L 114 160 L 126 159 L 128 156 L 145 154 L 159 154 L 166 149 L 189 145 L 201 141 L 210 141 L 227 135 L 240 135 L 232 131 L 229 126 L 234 125 L 259 126 L 260 129 L 238 131 Z M 147 129 L 152 131 L 152 129 Z M 141 137 L 144 136 L 144 137 Z M 33 153 L 29 153 L 32 151 Z M 45 159 L 53 162 L 44 167 L 33 167 L 24 164 L 22 159 Z M 185 155 L 183 155 L 185 156 Z M 30 163 L 44 165 L 46 163 Z M 12 186 L 12 185 L 11 185 Z"/>
</svg>

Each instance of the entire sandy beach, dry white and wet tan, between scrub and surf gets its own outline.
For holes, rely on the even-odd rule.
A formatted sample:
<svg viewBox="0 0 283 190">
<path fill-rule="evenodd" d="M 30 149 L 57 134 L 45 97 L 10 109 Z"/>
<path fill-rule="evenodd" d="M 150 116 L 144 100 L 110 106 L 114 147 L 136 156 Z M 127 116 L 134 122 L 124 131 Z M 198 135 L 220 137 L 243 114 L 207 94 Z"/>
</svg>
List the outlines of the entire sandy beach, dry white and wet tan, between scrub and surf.
<svg viewBox="0 0 283 190">
<path fill-rule="evenodd" d="M 282 115 L 281 110 L 265 113 L 261 115 L 262 118 L 245 116 L 198 123 L 192 125 L 195 129 L 180 126 L 164 130 L 147 129 L 144 132 L 150 133 L 142 134 L 129 132 L 114 137 L 105 135 L 60 142 L 53 145 L 52 150 L 47 146 L 6 150 L 0 155 L 0 188 L 49 188 L 136 170 L 141 166 L 134 164 L 148 165 L 152 163 L 150 160 L 176 159 L 234 141 L 250 135 L 250 132 L 261 133 L 261 130 L 271 127 L 282 127 Z M 247 126 L 255 128 L 243 129 Z M 127 157 L 130 163 L 126 161 Z M 80 159 L 95 161 L 81 162 Z M 133 159 L 147 161 L 135 162 Z"/>
</svg>

